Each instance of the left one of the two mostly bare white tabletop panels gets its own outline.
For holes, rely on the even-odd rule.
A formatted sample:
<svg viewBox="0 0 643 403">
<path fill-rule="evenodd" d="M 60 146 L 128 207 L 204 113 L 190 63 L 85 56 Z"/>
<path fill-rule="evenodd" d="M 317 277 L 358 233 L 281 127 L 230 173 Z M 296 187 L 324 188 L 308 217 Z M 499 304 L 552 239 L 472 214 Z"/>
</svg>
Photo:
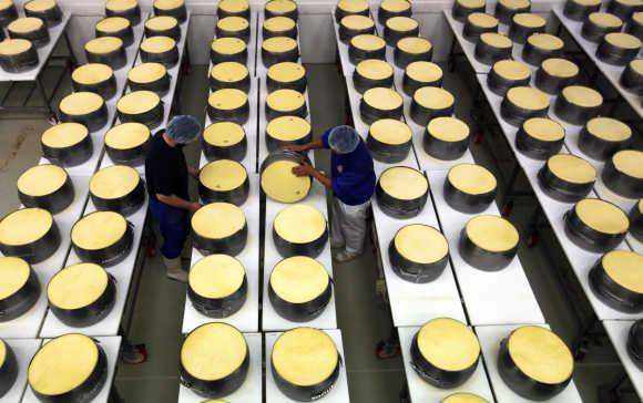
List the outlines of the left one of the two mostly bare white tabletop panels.
<svg viewBox="0 0 643 403">
<path fill-rule="evenodd" d="M 380 172 L 377 174 L 379 177 Z M 466 322 L 467 317 L 450 262 L 447 264 L 440 277 L 427 283 L 404 280 L 396 275 L 390 265 L 388 247 L 400 228 L 410 224 L 425 224 L 440 230 L 430 197 L 419 215 L 409 219 L 387 216 L 374 198 L 372 216 L 377 227 L 377 242 L 394 324 L 396 327 L 421 326 L 430 319 L 442 317 Z M 450 249 L 453 247 L 450 245 Z"/>
</svg>

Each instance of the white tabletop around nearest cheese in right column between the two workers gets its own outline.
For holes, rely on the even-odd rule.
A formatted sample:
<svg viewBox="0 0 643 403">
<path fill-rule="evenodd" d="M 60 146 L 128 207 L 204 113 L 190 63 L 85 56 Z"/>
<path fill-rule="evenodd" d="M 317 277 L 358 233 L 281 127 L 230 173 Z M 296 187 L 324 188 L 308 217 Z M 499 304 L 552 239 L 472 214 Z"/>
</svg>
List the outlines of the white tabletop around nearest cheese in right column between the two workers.
<svg viewBox="0 0 643 403">
<path fill-rule="evenodd" d="M 304 324 L 306 326 L 306 324 Z M 337 351 L 341 356 L 343 364 L 339 366 L 339 378 L 327 395 L 317 400 L 323 403 L 346 403 L 350 402 L 348 396 L 348 380 L 346 376 L 346 358 L 344 355 L 344 345 L 341 343 L 341 330 L 331 329 L 324 330 L 335 341 Z M 271 365 L 271 356 L 273 354 L 273 345 L 282 333 L 265 333 L 266 337 L 266 403 L 293 403 L 294 400 L 286 397 L 278 389 L 273 378 L 273 368 Z"/>
</svg>

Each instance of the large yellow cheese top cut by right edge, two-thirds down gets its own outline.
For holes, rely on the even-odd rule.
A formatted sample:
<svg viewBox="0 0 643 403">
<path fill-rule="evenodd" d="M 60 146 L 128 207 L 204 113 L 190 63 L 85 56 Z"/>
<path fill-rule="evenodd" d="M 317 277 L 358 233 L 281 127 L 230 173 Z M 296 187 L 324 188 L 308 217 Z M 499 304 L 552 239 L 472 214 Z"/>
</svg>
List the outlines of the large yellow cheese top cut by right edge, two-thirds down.
<svg viewBox="0 0 643 403">
<path fill-rule="evenodd" d="M 643 255 L 630 250 L 612 250 L 603 255 L 601 266 L 619 286 L 643 293 Z"/>
</svg>

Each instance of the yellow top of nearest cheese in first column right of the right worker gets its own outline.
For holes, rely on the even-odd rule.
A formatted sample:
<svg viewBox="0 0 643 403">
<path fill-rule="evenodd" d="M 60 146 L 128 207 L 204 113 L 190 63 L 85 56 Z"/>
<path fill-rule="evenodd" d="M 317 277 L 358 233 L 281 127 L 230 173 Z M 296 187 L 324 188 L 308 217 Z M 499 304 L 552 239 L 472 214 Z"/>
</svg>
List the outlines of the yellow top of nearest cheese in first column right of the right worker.
<svg viewBox="0 0 643 403">
<path fill-rule="evenodd" d="M 463 371 L 480 355 L 480 342 L 465 323 L 438 318 L 427 322 L 417 334 L 418 349 L 425 360 L 443 371 Z"/>
</svg>

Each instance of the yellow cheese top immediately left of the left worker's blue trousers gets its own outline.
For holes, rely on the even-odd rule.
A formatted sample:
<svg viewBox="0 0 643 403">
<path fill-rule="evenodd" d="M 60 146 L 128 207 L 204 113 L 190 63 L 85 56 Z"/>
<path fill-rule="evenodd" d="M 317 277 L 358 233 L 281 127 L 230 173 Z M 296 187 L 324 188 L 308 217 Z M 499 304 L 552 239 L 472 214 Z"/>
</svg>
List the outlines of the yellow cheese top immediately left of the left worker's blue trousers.
<svg viewBox="0 0 643 403">
<path fill-rule="evenodd" d="M 100 231 L 96 228 L 100 228 Z M 116 244 L 126 230 L 127 221 L 122 215 L 114 211 L 95 211 L 73 225 L 71 240 L 85 250 L 99 250 Z"/>
</svg>

